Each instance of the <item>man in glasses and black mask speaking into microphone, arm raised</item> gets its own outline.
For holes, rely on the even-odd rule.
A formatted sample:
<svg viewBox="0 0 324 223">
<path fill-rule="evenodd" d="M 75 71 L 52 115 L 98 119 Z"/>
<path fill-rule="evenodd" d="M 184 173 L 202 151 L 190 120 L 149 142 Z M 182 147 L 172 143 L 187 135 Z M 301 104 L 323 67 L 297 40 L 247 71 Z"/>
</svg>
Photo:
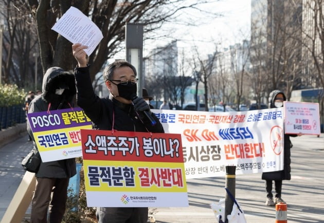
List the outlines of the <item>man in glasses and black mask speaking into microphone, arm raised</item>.
<svg viewBox="0 0 324 223">
<path fill-rule="evenodd" d="M 86 46 L 72 45 L 78 61 L 75 68 L 77 102 L 93 122 L 94 129 L 128 132 L 164 133 L 158 118 L 151 113 L 143 98 L 137 97 L 137 73 L 127 61 L 115 61 L 103 71 L 103 80 L 110 95 L 99 98 L 95 95 L 86 61 Z M 97 208 L 99 223 L 145 223 L 148 208 Z"/>
</svg>

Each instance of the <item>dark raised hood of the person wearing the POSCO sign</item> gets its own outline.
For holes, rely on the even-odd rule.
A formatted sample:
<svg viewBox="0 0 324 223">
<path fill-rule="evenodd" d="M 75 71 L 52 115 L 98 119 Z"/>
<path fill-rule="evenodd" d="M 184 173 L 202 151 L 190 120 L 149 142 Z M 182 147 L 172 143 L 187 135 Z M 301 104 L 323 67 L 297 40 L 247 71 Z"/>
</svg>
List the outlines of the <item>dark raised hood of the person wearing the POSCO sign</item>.
<svg viewBox="0 0 324 223">
<path fill-rule="evenodd" d="M 55 94 L 56 89 L 60 88 L 64 88 L 63 94 Z M 57 103 L 63 97 L 66 102 L 72 101 L 77 93 L 73 72 L 64 71 L 60 67 L 48 68 L 43 78 L 42 90 L 42 98 L 48 103 Z"/>
</svg>

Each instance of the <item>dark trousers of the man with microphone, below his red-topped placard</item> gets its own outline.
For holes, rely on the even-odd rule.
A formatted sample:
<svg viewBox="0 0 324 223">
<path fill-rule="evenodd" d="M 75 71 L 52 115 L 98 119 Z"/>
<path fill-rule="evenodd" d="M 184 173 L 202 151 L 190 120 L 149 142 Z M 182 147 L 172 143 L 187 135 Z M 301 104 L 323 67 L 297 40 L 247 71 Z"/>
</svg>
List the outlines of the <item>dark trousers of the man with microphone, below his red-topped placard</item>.
<svg viewBox="0 0 324 223">
<path fill-rule="evenodd" d="M 98 223 L 146 223 L 148 208 L 97 208 Z"/>
</svg>

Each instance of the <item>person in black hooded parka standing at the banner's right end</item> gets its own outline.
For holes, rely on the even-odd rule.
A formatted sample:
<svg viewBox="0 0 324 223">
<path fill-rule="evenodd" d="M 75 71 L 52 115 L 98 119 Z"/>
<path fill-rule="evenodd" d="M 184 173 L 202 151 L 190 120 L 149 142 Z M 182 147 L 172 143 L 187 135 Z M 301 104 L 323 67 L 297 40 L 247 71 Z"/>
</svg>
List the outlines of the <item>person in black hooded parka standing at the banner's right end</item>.
<svg viewBox="0 0 324 223">
<path fill-rule="evenodd" d="M 269 94 L 269 108 L 274 107 L 282 107 L 283 101 L 286 100 L 285 95 L 280 90 L 273 90 Z M 300 136 L 301 134 L 298 134 Z M 282 180 L 290 180 L 290 148 L 292 147 L 292 143 L 290 141 L 290 136 L 296 137 L 297 135 L 287 135 L 284 134 L 283 138 L 283 170 L 282 171 L 274 171 L 274 172 L 266 172 L 262 173 L 262 179 L 265 180 L 265 188 L 266 188 L 266 206 L 275 206 L 276 203 L 284 202 L 281 198 L 281 188 L 282 188 Z M 273 199 L 272 194 L 272 181 L 275 181 L 275 200 Z M 284 202 L 285 203 L 285 202 Z"/>
</svg>

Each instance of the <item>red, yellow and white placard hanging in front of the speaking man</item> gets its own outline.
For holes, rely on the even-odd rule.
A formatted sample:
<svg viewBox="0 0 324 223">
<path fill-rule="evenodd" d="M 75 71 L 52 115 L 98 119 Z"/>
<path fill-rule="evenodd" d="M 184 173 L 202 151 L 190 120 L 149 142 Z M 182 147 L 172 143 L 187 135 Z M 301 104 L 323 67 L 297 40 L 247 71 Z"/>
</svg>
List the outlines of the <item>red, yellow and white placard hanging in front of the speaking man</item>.
<svg viewBox="0 0 324 223">
<path fill-rule="evenodd" d="M 180 134 L 81 129 L 88 207 L 188 207 Z"/>
</svg>

